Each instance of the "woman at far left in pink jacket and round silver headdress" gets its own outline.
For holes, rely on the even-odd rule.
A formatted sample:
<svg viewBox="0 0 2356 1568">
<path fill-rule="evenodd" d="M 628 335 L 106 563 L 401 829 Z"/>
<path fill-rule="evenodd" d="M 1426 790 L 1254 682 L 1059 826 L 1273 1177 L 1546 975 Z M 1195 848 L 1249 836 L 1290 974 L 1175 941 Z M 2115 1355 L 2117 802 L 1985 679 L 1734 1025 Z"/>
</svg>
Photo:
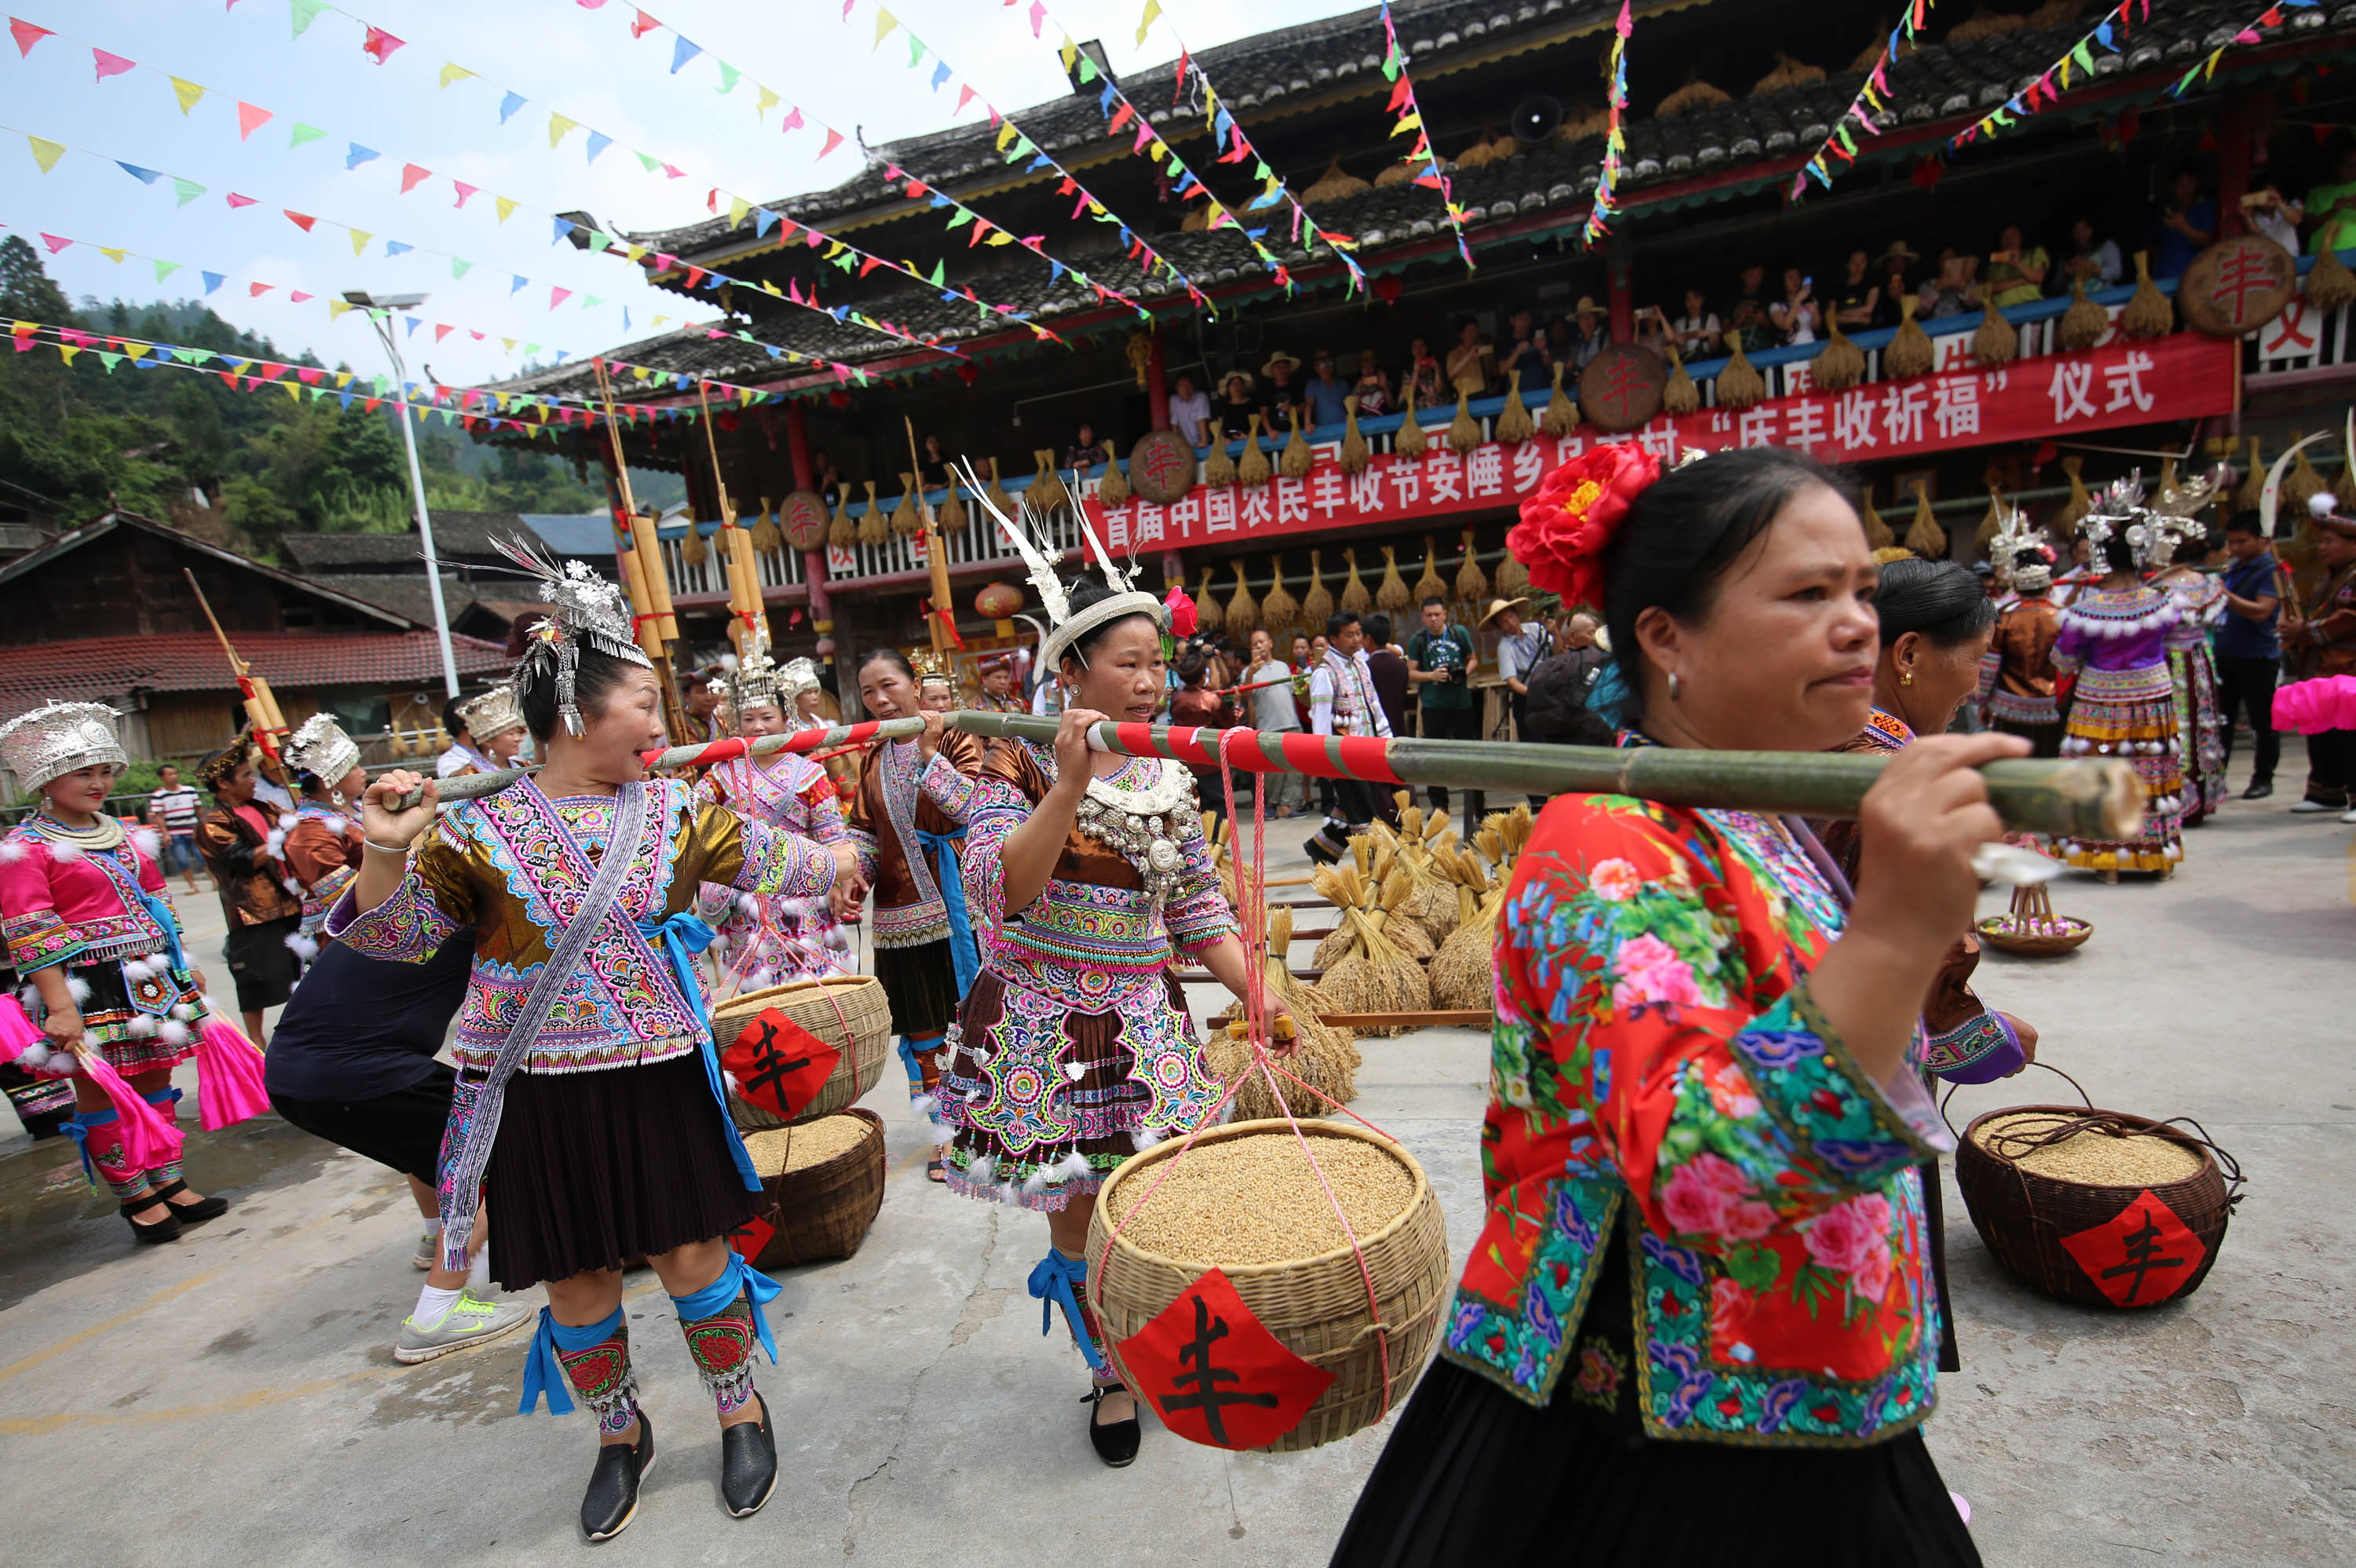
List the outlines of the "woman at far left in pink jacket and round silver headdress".
<svg viewBox="0 0 2356 1568">
<path fill-rule="evenodd" d="M 115 1194 L 132 1238 L 177 1241 L 184 1224 L 229 1210 L 181 1177 L 179 1161 L 139 1168 L 123 1118 L 92 1081 L 99 1057 L 134 1095 L 172 1116 L 172 1069 L 196 1055 L 205 1022 L 205 975 L 181 949 L 155 833 L 125 831 L 106 793 L 127 768 L 115 711 L 97 702 L 47 702 L 0 725 L 0 765 L 40 805 L 0 838 L 0 923 L 9 961 L 31 979 L 31 1017 L 45 1041 L 21 1067 L 73 1076 L 82 1172 Z"/>
</svg>

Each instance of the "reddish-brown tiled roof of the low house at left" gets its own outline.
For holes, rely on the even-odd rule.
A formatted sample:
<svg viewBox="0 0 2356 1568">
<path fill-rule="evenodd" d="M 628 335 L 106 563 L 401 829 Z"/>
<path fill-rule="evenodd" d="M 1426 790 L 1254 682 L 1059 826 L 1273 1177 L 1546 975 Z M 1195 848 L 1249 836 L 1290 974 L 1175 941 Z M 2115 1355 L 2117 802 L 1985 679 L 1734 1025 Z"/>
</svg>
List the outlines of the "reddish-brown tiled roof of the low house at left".
<svg viewBox="0 0 2356 1568">
<path fill-rule="evenodd" d="M 507 650 L 450 638 L 462 676 L 507 671 Z M 325 636 L 240 631 L 238 655 L 280 692 L 332 685 L 398 687 L 441 683 L 441 643 L 431 631 Z M 0 713 L 24 713 L 45 699 L 104 702 L 132 690 L 224 692 L 221 645 L 212 633 L 172 631 L 148 638 L 80 638 L 0 647 Z"/>
</svg>

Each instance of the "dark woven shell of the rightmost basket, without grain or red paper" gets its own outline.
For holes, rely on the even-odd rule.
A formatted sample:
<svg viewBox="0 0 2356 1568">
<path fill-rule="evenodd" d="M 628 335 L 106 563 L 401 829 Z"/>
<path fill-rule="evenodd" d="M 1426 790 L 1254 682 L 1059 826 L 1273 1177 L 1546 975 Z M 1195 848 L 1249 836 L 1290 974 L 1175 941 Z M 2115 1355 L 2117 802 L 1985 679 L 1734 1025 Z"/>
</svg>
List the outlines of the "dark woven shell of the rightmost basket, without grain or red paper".
<svg viewBox="0 0 2356 1568">
<path fill-rule="evenodd" d="M 2062 1076 L 2069 1078 L 2069 1074 Z M 2076 1085 L 2078 1081 L 2071 1078 L 2071 1088 Z M 2085 1095 L 2085 1090 L 2078 1092 Z M 2073 1182 L 2029 1170 L 2007 1156 L 2003 1147 L 1988 1149 L 1974 1137 L 1984 1123 L 2021 1114 L 2050 1114 L 2054 1116 L 2054 1128 L 2085 1125 L 2094 1135 L 2102 1135 L 2104 1128 L 2116 1128 L 2120 1132 L 2165 1137 L 2201 1156 L 2201 1170 L 2179 1182 L 2158 1184 L 2111 1187 Z M 2177 1121 L 2191 1118 L 2179 1116 Z M 2106 1311 L 2139 1311 L 2146 1304 L 2184 1300 L 2201 1288 L 2201 1281 L 2217 1264 L 2226 1222 L 2241 1201 L 2241 1165 L 2208 1140 L 2201 1123 L 2191 1123 L 2191 1128 L 2186 1132 L 2165 1121 L 2151 1121 L 2130 1111 L 2097 1111 L 2092 1104 L 2014 1104 L 1974 1116 L 1972 1125 L 1963 1130 L 1955 1147 L 1955 1187 L 1963 1189 L 1963 1203 L 1972 1215 L 1979 1238 L 1988 1243 L 1988 1253 L 2017 1281 L 2059 1302 L 2080 1302 Z M 2003 1144 L 2003 1137 L 1998 1135 L 1998 1144 Z M 2069 1236 L 2080 1236 L 2118 1220 L 2130 1205 L 2142 1203 L 2146 1191 L 2165 1203 L 2184 1229 L 2198 1238 L 2201 1260 L 2184 1276 L 2184 1283 L 2165 1295 L 2156 1295 L 2151 1302 L 2120 1304 L 2104 1295 L 2102 1285 L 2094 1283 L 2078 1257 L 2062 1243 Z"/>
</svg>

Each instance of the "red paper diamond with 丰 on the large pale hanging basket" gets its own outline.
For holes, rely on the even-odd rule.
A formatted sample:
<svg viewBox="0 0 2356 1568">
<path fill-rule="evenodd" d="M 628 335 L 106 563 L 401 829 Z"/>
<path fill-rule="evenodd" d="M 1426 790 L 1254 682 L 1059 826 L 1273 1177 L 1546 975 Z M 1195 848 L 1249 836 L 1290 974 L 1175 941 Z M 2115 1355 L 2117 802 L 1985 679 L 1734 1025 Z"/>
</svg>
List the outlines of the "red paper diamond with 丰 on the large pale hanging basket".
<svg viewBox="0 0 2356 1568">
<path fill-rule="evenodd" d="M 1284 1349 L 1220 1269 L 1119 1344 L 1162 1424 L 1211 1448 L 1265 1448 L 1301 1424 L 1333 1373 Z"/>
</svg>

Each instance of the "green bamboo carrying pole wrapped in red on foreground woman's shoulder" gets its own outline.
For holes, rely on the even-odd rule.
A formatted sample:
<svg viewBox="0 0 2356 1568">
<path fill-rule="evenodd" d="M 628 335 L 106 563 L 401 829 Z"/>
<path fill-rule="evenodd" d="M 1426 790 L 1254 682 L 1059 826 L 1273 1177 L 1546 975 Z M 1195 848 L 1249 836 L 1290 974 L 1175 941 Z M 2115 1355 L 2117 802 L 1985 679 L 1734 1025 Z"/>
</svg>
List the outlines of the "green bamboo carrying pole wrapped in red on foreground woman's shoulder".
<svg viewBox="0 0 2356 1568">
<path fill-rule="evenodd" d="M 1053 718 L 1027 713 L 949 713 L 952 730 L 985 737 L 1053 742 Z M 1663 805 L 1854 817 L 1887 756 L 1852 751 L 1687 751 L 1677 746 L 1529 746 L 1301 735 L 1296 730 L 1194 730 L 1093 725 L 1088 744 L 1121 756 L 1164 756 L 1192 768 L 1225 763 L 1239 772 L 1301 772 L 1312 779 L 1362 779 L 1444 789 L 1498 789 L 1560 796 L 1569 791 L 1637 796 Z M 2062 838 L 2135 838 L 2144 791 L 2123 758 L 1986 763 L 1988 803 L 2005 826 Z"/>
</svg>

